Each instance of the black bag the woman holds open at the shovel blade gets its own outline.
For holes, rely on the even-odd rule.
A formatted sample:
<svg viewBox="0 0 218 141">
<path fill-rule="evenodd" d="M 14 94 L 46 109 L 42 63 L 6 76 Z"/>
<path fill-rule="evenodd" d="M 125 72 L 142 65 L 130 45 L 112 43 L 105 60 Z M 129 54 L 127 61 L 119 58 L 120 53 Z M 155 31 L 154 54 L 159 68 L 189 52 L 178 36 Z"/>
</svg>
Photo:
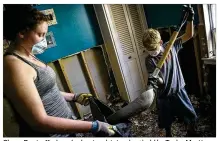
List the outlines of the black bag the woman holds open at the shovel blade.
<svg viewBox="0 0 218 141">
<path fill-rule="evenodd" d="M 110 108 L 102 101 L 94 97 L 89 98 L 89 104 L 94 120 L 99 120 L 102 122 L 109 123 L 107 121 L 107 117 L 115 113 L 115 111 L 112 108 Z M 130 132 L 131 125 L 132 123 L 128 119 L 123 120 L 121 123 L 115 124 L 115 128 L 114 128 L 115 135 L 113 137 L 131 137 L 131 132 Z M 101 135 L 96 135 L 96 136 L 101 136 Z"/>
</svg>

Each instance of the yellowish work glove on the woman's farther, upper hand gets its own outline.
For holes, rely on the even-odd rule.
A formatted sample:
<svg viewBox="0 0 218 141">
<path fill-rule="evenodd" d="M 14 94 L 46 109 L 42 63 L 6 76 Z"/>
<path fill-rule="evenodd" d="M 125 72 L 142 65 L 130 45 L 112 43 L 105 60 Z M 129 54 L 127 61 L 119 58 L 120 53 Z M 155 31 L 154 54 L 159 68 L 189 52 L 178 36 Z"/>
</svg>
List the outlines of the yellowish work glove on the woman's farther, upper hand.
<svg viewBox="0 0 218 141">
<path fill-rule="evenodd" d="M 90 97 L 92 97 L 92 94 L 90 93 L 75 93 L 73 96 L 73 101 L 87 106 L 89 104 Z"/>
</svg>

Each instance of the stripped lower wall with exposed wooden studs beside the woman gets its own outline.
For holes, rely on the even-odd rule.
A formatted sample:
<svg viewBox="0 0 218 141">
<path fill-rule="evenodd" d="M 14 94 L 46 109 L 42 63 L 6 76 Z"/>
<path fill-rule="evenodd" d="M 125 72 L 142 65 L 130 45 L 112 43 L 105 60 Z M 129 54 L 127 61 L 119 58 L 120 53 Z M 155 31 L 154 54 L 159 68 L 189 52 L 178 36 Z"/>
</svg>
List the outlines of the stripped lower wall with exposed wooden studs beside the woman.
<svg viewBox="0 0 218 141">
<path fill-rule="evenodd" d="M 85 59 L 93 79 L 99 99 L 107 103 L 107 96 L 110 95 L 110 81 L 107 65 L 103 56 L 101 46 L 84 51 Z M 62 70 L 57 61 L 49 63 L 56 74 L 57 83 L 61 91 L 75 93 L 92 93 L 92 88 L 87 81 L 87 74 L 81 61 L 80 53 L 68 56 L 59 60 L 63 66 Z M 65 73 L 65 76 L 63 76 Z M 66 79 L 68 82 L 66 82 Z M 67 84 L 68 83 L 68 84 Z M 69 88 L 69 87 L 70 88 Z M 93 94 L 93 93 L 92 93 Z M 89 106 L 76 104 L 79 116 L 90 113 Z M 74 110 L 76 112 L 76 109 Z M 75 113 L 77 115 L 77 113 Z"/>
</svg>

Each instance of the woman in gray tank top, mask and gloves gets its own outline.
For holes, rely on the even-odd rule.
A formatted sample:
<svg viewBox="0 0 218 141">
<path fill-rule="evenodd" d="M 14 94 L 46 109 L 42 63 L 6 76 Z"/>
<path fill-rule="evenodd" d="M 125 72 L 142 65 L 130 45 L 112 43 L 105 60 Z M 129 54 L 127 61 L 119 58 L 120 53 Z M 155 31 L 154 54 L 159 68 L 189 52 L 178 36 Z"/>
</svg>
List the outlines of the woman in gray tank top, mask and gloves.
<svg viewBox="0 0 218 141">
<path fill-rule="evenodd" d="M 20 136 L 69 137 L 78 132 L 114 135 L 107 123 L 73 120 L 67 101 L 86 105 L 91 94 L 60 92 L 52 68 L 33 55 L 47 48 L 48 17 L 30 5 L 4 7 L 4 38 L 11 44 L 4 55 L 3 89 L 17 113 Z"/>
</svg>

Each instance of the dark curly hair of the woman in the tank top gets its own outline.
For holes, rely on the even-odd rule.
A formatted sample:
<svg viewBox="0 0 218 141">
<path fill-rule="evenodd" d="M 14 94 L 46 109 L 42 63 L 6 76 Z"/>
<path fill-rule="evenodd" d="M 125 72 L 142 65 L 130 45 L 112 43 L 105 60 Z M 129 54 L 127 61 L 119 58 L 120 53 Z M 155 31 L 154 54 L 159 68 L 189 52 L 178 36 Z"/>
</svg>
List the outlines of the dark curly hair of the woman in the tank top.
<svg viewBox="0 0 218 141">
<path fill-rule="evenodd" d="M 34 30 L 43 21 L 48 21 L 48 16 L 30 4 L 4 4 L 4 39 L 14 41 L 19 32 Z"/>
</svg>

